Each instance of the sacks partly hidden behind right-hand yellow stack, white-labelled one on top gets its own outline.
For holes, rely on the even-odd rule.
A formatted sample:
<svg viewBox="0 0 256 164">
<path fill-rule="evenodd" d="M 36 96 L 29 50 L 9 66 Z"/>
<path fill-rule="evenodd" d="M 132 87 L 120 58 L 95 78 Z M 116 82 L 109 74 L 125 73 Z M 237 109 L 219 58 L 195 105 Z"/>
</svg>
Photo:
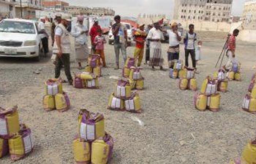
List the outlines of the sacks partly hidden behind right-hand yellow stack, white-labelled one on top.
<svg viewBox="0 0 256 164">
<path fill-rule="evenodd" d="M 223 69 L 219 69 L 218 72 L 214 73 L 213 77 L 218 80 L 217 90 L 220 92 L 226 92 L 228 81 L 225 78 L 225 71 Z"/>
</svg>

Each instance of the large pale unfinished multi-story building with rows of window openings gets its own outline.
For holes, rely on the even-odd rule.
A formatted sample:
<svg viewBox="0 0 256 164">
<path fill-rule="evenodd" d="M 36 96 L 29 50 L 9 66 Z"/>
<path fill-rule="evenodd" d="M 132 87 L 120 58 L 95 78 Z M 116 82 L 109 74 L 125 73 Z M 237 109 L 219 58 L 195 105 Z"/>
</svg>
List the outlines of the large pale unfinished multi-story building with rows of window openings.
<svg viewBox="0 0 256 164">
<path fill-rule="evenodd" d="M 173 18 L 229 22 L 233 0 L 175 0 Z"/>
</svg>

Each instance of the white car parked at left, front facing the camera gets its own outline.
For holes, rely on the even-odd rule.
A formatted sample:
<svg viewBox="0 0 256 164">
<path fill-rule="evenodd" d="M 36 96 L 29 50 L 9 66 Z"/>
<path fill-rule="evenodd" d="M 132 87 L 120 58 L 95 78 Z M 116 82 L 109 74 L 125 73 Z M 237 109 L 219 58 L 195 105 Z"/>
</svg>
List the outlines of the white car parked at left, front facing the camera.
<svg viewBox="0 0 256 164">
<path fill-rule="evenodd" d="M 39 60 L 41 37 L 33 20 L 4 19 L 0 22 L 0 56 Z"/>
</svg>

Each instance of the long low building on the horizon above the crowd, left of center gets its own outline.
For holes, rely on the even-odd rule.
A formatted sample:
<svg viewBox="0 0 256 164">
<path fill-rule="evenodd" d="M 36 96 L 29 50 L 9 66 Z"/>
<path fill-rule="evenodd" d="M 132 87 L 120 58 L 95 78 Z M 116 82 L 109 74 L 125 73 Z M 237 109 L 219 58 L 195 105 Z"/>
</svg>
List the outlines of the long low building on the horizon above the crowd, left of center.
<svg viewBox="0 0 256 164">
<path fill-rule="evenodd" d="M 101 7 L 79 7 L 79 6 L 66 6 L 64 8 L 65 11 L 71 13 L 72 16 L 76 15 L 98 15 L 98 16 L 114 16 L 115 11 L 109 8 L 101 8 Z"/>
</svg>

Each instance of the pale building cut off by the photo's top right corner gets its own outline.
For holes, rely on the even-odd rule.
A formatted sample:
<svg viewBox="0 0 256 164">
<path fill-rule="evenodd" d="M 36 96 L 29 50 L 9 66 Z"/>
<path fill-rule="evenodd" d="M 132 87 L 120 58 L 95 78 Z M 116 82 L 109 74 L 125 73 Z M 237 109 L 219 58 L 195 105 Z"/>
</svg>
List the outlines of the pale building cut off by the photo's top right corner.
<svg viewBox="0 0 256 164">
<path fill-rule="evenodd" d="M 242 21 L 244 29 L 256 30 L 256 0 L 245 1 Z"/>
</svg>

